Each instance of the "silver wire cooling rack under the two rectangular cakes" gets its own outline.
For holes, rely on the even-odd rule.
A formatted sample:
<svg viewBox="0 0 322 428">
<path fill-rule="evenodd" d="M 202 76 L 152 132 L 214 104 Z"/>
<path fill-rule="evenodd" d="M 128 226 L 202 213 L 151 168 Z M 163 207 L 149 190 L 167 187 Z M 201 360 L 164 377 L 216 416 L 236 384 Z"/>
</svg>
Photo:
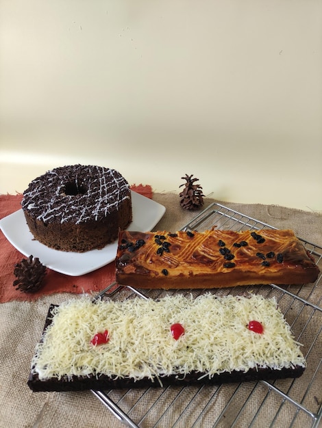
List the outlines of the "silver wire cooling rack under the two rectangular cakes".
<svg viewBox="0 0 322 428">
<path fill-rule="evenodd" d="M 212 226 L 229 230 L 275 229 L 221 204 L 211 204 L 182 230 L 203 231 Z M 322 271 L 322 248 L 301 239 Z M 273 382 L 244 382 L 221 386 L 169 386 L 132 390 L 94 391 L 93 394 L 128 427 L 312 427 L 322 422 L 322 275 L 306 285 L 233 287 L 215 289 L 216 295 L 245 291 L 275 297 L 296 340 L 303 344 L 307 360 L 298 379 Z M 129 286 L 108 286 L 97 298 L 131 299 L 162 297 L 166 293 L 193 293 L 204 290 L 145 290 Z M 210 290 L 207 289 L 207 292 Z M 206 399 L 205 399 L 206 397 Z"/>
</svg>

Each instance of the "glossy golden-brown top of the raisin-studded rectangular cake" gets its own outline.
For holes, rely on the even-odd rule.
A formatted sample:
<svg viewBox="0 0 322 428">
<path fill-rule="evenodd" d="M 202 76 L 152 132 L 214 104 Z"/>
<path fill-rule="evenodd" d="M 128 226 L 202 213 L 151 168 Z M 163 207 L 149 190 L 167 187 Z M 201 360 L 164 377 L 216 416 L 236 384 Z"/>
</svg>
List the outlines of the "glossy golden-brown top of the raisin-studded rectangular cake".
<svg viewBox="0 0 322 428">
<path fill-rule="evenodd" d="M 284 261 L 290 269 L 299 264 L 310 267 L 314 263 L 290 230 L 263 229 L 260 234 L 249 230 L 123 231 L 116 271 L 129 275 L 140 271 L 140 274 L 153 278 L 160 276 L 160 280 L 163 276 L 167 278 L 166 281 L 164 278 L 164 284 L 167 284 L 169 278 L 187 276 L 192 279 L 200 272 L 212 274 L 245 269 L 260 275 L 265 270 L 268 275 L 271 272 L 273 279 L 270 282 L 274 282 L 275 271 L 279 269 L 277 265 Z"/>
</svg>

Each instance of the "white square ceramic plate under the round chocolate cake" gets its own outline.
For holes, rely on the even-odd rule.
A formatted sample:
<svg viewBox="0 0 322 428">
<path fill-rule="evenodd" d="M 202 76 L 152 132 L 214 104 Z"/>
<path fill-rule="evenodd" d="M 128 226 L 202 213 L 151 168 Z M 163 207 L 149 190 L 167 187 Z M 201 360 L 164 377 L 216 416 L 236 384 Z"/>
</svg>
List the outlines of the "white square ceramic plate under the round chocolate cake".
<svg viewBox="0 0 322 428">
<path fill-rule="evenodd" d="M 156 226 L 165 211 L 163 205 L 132 191 L 133 220 L 127 230 L 147 232 Z M 106 245 L 102 250 L 91 250 L 85 253 L 48 248 L 34 240 L 22 209 L 1 219 L 0 228 L 8 241 L 24 256 L 28 257 L 32 254 L 53 271 L 69 276 L 79 276 L 95 271 L 112 262 L 116 256 L 117 241 Z"/>
</svg>

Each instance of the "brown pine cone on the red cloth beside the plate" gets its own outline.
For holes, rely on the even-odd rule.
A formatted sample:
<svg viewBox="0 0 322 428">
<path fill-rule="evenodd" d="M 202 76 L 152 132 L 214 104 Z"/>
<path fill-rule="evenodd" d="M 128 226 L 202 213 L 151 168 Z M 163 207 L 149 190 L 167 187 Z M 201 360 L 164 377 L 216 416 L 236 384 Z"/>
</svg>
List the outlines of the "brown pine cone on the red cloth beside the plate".
<svg viewBox="0 0 322 428">
<path fill-rule="evenodd" d="M 14 265 L 14 276 L 18 279 L 14 280 L 13 285 L 24 293 L 35 293 L 42 287 L 45 275 L 46 266 L 40 263 L 38 257 L 33 259 L 33 256 L 29 256 Z"/>
</svg>

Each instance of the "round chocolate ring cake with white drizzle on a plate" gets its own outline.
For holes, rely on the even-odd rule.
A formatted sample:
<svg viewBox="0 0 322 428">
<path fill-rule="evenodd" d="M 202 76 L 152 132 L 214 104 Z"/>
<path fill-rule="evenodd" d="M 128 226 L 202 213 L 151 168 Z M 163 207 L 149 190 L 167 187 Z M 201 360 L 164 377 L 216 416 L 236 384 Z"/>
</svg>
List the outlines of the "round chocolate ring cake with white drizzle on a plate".
<svg viewBox="0 0 322 428">
<path fill-rule="evenodd" d="M 35 178 L 23 193 L 21 206 L 34 238 L 55 250 L 103 248 L 132 222 L 125 178 L 92 165 L 55 168 Z"/>
</svg>

